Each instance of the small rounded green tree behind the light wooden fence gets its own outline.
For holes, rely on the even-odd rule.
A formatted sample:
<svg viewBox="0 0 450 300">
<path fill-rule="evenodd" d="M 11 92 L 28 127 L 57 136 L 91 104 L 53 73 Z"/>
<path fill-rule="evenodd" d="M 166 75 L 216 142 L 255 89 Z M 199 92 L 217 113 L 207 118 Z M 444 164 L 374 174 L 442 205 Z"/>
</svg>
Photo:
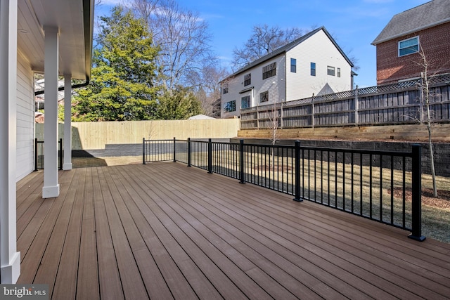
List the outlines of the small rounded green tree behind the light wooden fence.
<svg viewBox="0 0 450 300">
<path fill-rule="evenodd" d="M 200 101 L 192 91 L 181 86 L 166 91 L 158 104 L 158 119 L 188 119 L 203 112 Z"/>
</svg>

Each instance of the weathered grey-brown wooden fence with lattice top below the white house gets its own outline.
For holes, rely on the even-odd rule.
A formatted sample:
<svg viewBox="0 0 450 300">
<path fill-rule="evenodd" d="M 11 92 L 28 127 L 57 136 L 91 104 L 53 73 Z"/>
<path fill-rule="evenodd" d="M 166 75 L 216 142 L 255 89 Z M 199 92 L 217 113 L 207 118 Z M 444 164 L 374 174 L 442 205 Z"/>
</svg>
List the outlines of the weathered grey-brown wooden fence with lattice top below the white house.
<svg viewBox="0 0 450 300">
<path fill-rule="evenodd" d="M 423 79 L 371 86 L 240 111 L 241 129 L 413 124 L 425 119 Z M 450 74 L 430 80 L 433 122 L 450 122 Z M 275 121 L 274 121 L 275 120 Z"/>
</svg>

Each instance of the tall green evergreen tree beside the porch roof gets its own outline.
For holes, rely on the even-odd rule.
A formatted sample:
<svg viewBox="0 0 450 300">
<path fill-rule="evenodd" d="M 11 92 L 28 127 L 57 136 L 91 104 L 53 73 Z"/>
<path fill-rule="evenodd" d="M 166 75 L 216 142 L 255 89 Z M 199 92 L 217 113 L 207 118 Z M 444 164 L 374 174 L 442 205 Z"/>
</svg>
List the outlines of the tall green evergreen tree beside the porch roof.
<svg viewBox="0 0 450 300">
<path fill-rule="evenodd" d="M 145 22 L 116 6 L 101 17 L 97 42 L 91 84 L 75 96 L 73 121 L 155 119 L 159 49 Z"/>
</svg>

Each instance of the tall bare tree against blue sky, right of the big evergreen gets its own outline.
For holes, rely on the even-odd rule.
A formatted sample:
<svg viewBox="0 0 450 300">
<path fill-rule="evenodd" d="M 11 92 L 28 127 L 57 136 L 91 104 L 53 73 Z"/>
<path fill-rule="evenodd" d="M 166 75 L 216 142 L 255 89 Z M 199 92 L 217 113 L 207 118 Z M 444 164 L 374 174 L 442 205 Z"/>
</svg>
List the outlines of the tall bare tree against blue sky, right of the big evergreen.
<svg viewBox="0 0 450 300">
<path fill-rule="evenodd" d="M 160 47 L 161 84 L 169 91 L 176 86 L 191 87 L 189 76 L 214 59 L 207 23 L 174 0 L 134 0 L 134 11 L 146 18 L 153 41 Z"/>
</svg>

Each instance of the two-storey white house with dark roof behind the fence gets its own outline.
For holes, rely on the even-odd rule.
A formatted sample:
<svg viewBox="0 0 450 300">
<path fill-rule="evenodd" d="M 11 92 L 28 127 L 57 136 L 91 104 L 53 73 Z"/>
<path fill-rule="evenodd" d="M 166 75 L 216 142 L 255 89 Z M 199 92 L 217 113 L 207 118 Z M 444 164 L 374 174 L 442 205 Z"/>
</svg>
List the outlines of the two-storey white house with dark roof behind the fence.
<svg viewBox="0 0 450 300">
<path fill-rule="evenodd" d="M 222 80 L 222 117 L 239 116 L 241 108 L 350 90 L 352 67 L 320 27 Z"/>
</svg>

